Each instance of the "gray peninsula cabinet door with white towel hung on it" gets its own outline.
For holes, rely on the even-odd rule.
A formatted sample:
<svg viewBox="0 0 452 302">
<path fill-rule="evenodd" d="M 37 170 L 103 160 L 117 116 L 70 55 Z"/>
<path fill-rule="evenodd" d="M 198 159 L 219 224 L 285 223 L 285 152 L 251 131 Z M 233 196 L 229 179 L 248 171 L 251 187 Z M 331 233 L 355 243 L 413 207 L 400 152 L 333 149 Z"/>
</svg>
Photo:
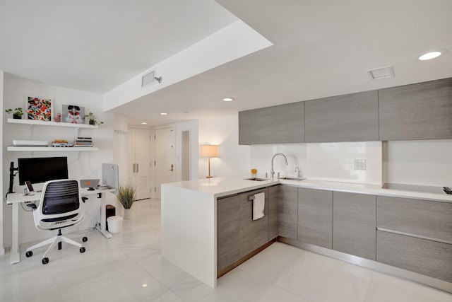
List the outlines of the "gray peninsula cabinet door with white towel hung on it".
<svg viewBox="0 0 452 302">
<path fill-rule="evenodd" d="M 253 220 L 253 202 L 249 197 L 264 192 L 266 194 L 263 217 Z M 268 188 L 239 194 L 240 198 L 240 257 L 260 248 L 268 242 Z"/>
</svg>

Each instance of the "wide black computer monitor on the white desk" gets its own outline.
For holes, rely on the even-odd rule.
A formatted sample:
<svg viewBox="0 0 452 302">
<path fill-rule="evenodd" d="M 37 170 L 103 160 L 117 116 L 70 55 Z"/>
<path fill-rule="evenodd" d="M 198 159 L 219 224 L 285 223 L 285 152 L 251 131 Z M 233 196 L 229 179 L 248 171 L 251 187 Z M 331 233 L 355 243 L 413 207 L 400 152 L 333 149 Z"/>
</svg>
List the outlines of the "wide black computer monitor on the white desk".
<svg viewBox="0 0 452 302">
<path fill-rule="evenodd" d="M 19 185 L 68 179 L 67 157 L 18 158 Z"/>
</svg>

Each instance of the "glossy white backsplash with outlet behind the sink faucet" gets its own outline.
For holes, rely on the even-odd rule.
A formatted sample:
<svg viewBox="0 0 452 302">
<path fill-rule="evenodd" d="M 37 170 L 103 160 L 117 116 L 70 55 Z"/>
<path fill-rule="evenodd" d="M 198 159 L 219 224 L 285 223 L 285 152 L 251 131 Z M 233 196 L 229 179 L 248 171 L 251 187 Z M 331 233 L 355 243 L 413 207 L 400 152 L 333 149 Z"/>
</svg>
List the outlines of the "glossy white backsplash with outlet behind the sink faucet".
<svg viewBox="0 0 452 302">
<path fill-rule="evenodd" d="M 281 152 L 287 157 L 275 158 L 275 172 L 295 176 L 295 167 L 302 170 L 305 178 L 341 182 L 357 182 L 381 185 L 381 141 L 365 141 L 327 144 L 280 144 L 253 145 L 250 148 L 251 168 L 258 175 L 270 175 L 271 158 Z M 355 159 L 366 161 L 366 170 L 355 170 Z"/>
</svg>

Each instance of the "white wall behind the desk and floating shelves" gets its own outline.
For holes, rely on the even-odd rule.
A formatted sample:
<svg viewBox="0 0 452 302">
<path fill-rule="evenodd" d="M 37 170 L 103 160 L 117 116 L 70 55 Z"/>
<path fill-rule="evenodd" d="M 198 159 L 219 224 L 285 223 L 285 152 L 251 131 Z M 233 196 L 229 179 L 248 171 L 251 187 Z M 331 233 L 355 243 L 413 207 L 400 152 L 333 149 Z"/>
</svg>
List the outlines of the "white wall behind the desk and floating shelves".
<svg viewBox="0 0 452 302">
<path fill-rule="evenodd" d="M 103 97 L 98 93 L 88 93 L 76 91 L 57 86 L 48 86 L 42 83 L 35 83 L 24 79 L 18 79 L 11 74 L 4 76 L 4 108 L 16 108 L 25 106 L 27 96 L 41 96 L 54 99 L 54 112 L 61 112 L 61 105 L 81 105 L 85 111 L 93 111 L 98 120 L 105 124 L 99 129 L 80 129 L 79 136 L 93 137 L 93 144 L 99 151 L 88 152 L 56 152 L 56 151 L 35 151 L 35 152 L 5 152 L 3 158 L 3 188 L 8 187 L 8 168 L 13 161 L 17 166 L 17 158 L 22 157 L 47 157 L 47 156 L 67 156 L 69 165 L 69 178 L 101 178 L 102 163 L 113 162 L 113 126 L 114 120 L 111 113 L 103 112 Z M 32 131 L 30 131 L 32 129 Z M 30 127 L 27 125 L 8 124 L 6 118 L 3 121 L 3 146 L 11 145 L 13 139 L 35 139 L 52 141 L 54 139 L 73 140 L 76 136 L 75 129 L 59 127 Z M 15 190 L 20 192 L 18 187 L 18 177 L 15 179 Z M 111 195 L 111 194 L 107 194 Z M 114 198 L 114 197 L 108 197 Z M 11 246 L 11 206 L 2 204 L 4 209 L 3 236 L 4 246 Z M 74 229 L 85 230 L 95 226 L 100 221 L 100 199 L 95 196 L 90 197 L 85 204 L 86 217 L 80 225 L 69 228 L 67 232 Z M 19 211 L 19 243 L 28 243 L 32 240 L 50 237 L 51 232 L 37 231 L 32 223 L 32 213 L 23 210 Z"/>
</svg>

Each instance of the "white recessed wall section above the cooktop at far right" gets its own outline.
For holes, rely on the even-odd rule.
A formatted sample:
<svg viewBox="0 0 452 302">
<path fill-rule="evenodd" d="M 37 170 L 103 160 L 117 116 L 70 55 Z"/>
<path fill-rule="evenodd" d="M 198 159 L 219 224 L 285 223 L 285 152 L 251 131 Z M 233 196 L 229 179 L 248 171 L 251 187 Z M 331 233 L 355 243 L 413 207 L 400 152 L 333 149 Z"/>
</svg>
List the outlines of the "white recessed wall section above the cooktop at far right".
<svg viewBox="0 0 452 302">
<path fill-rule="evenodd" d="M 452 139 L 386 141 L 384 182 L 452 187 Z"/>
</svg>

